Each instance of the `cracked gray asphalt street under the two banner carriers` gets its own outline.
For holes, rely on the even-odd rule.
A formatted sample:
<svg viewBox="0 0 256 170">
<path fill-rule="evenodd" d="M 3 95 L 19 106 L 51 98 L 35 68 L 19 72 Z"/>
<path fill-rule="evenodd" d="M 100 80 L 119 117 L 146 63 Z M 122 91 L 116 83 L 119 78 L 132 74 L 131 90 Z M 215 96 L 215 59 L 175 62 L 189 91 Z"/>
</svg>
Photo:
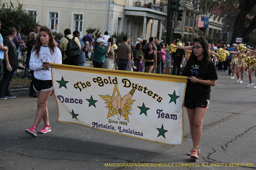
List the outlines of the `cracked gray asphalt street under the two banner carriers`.
<svg viewBox="0 0 256 170">
<path fill-rule="evenodd" d="M 186 155 L 192 149 L 186 109 L 183 143 L 165 145 L 57 122 L 56 101 L 50 96 L 52 132 L 31 137 L 24 130 L 34 122 L 37 98 L 22 92 L 0 100 L 0 169 L 256 169 L 256 89 L 246 88 L 246 74 L 242 84 L 224 71 L 218 70 L 218 77 L 204 117 L 199 160 Z M 255 84 L 254 73 L 252 80 Z M 43 126 L 42 121 L 38 129 Z"/>
</svg>

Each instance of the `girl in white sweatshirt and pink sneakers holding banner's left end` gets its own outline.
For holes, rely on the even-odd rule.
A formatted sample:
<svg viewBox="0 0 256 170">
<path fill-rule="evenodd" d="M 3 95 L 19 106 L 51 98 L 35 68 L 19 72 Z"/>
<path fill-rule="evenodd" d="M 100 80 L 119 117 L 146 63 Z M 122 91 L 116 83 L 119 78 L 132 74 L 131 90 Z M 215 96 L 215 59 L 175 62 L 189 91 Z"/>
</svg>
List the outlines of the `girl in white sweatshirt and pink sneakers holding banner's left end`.
<svg viewBox="0 0 256 170">
<path fill-rule="evenodd" d="M 25 129 L 25 132 L 33 137 L 36 137 L 36 128 L 42 119 L 44 128 L 39 133 L 52 131 L 47 109 L 47 100 L 52 93 L 52 74 L 49 63 L 61 64 L 61 52 L 54 42 L 51 29 L 41 27 L 29 61 L 30 69 L 34 70 L 33 81 L 38 102 L 35 122 L 30 129 Z"/>
</svg>

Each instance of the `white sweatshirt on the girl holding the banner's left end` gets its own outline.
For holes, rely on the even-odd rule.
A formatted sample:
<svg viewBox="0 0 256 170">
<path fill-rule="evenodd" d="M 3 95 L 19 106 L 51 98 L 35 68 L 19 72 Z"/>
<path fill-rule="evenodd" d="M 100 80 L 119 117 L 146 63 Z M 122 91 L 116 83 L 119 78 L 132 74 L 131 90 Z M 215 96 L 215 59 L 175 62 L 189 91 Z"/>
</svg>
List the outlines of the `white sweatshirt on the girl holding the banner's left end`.
<svg viewBox="0 0 256 170">
<path fill-rule="evenodd" d="M 51 54 L 50 49 L 48 47 L 41 46 L 39 51 L 39 56 L 36 56 L 36 51 L 33 51 L 30 55 L 29 67 L 34 71 L 34 76 L 38 80 L 52 80 L 52 72 L 51 68 L 46 70 L 43 67 L 43 62 L 49 63 L 62 63 L 61 52 L 59 48 L 55 48 L 55 52 Z M 41 70 L 43 69 L 43 70 Z"/>
</svg>

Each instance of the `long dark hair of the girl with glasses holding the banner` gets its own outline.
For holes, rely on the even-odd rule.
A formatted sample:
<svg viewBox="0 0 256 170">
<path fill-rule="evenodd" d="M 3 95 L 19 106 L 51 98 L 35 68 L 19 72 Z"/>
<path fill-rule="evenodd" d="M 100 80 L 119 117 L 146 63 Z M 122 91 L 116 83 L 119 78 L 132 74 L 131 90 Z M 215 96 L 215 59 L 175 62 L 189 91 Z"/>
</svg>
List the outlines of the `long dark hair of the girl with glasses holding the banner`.
<svg viewBox="0 0 256 170">
<path fill-rule="evenodd" d="M 193 45 L 194 45 L 195 42 L 199 42 L 202 45 L 203 49 L 204 49 L 202 64 L 200 65 L 200 69 L 199 69 L 199 77 L 200 78 L 207 78 L 207 76 L 208 76 L 207 75 L 207 68 L 208 68 L 208 65 L 211 64 L 211 59 L 210 59 L 210 55 L 209 55 L 209 48 L 208 48 L 209 44 L 208 44 L 207 40 L 203 37 L 195 38 L 194 41 L 193 41 Z M 189 75 L 189 70 L 192 67 L 192 65 L 194 65 L 196 63 L 196 60 L 197 60 L 197 57 L 194 54 L 194 51 L 192 49 L 192 53 L 189 56 L 187 64 L 186 64 L 186 66 L 183 70 L 186 76 Z"/>
</svg>

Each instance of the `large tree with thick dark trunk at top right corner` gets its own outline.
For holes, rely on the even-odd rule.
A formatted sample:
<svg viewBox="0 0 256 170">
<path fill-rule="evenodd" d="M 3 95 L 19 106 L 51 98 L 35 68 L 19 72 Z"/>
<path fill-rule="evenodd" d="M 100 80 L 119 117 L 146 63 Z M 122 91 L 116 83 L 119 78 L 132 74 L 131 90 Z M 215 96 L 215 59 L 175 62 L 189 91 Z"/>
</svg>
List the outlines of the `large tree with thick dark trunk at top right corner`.
<svg viewBox="0 0 256 170">
<path fill-rule="evenodd" d="M 225 25 L 232 31 L 231 43 L 245 38 L 256 29 L 256 0 L 199 0 L 195 9 L 206 15 L 209 8 L 217 8 L 224 17 Z"/>
</svg>

